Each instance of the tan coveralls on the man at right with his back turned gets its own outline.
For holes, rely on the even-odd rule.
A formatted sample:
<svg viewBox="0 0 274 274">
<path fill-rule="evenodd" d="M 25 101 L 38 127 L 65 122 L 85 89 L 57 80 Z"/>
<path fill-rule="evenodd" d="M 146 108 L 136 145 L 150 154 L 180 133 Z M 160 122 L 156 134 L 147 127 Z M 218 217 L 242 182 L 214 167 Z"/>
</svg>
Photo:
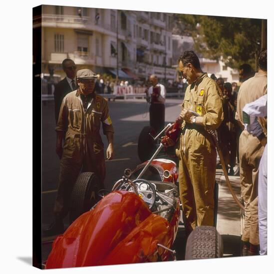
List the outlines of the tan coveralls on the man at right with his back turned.
<svg viewBox="0 0 274 274">
<path fill-rule="evenodd" d="M 235 119 L 243 124 L 243 108 L 267 94 L 267 73 L 258 72 L 245 81 L 239 90 Z M 265 128 L 266 120 L 258 119 Z M 265 131 L 266 133 L 266 131 Z M 239 140 L 241 192 L 245 203 L 245 228 L 242 240 L 259 245 L 258 226 L 258 171 L 264 146 L 248 131 Z"/>
</svg>

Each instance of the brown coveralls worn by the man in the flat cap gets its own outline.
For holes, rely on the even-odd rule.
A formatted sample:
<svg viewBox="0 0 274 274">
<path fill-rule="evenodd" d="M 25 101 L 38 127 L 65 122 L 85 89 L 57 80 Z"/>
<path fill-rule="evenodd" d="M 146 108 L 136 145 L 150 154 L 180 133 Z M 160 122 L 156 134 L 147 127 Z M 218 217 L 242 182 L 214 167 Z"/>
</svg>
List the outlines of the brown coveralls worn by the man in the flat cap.
<svg viewBox="0 0 274 274">
<path fill-rule="evenodd" d="M 68 212 L 70 195 L 81 168 L 82 172 L 96 173 L 103 187 L 105 160 L 99 134 L 101 122 L 104 135 L 114 133 L 108 104 L 102 96 L 94 94 L 85 112 L 79 89 L 64 97 L 55 129 L 66 132 L 54 206 L 54 213 L 60 218 Z"/>
</svg>

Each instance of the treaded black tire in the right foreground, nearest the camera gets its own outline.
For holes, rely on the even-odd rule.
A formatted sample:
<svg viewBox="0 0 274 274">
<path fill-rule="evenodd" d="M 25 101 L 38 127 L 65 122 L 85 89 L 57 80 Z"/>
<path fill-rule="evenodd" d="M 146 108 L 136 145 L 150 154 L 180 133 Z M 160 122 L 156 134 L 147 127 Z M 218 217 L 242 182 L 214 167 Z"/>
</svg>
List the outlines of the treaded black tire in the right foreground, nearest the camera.
<svg viewBox="0 0 274 274">
<path fill-rule="evenodd" d="M 223 240 L 215 227 L 196 227 L 188 237 L 186 260 L 223 257 Z"/>
</svg>

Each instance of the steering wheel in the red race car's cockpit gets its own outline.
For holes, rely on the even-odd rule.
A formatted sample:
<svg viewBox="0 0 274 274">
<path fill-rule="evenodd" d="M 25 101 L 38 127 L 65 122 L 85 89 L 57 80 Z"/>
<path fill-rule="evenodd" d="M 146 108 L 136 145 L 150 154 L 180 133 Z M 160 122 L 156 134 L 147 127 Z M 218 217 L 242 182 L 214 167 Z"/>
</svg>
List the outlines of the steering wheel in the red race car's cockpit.
<svg viewBox="0 0 274 274">
<path fill-rule="evenodd" d="M 156 190 L 151 182 L 144 179 L 136 179 L 132 181 L 134 184 L 140 183 L 146 185 L 146 189 L 140 189 L 140 185 L 138 187 L 139 196 L 148 204 L 148 208 L 151 209 L 155 204 L 156 200 Z M 130 185 L 127 186 L 126 190 L 130 190 Z"/>
</svg>

